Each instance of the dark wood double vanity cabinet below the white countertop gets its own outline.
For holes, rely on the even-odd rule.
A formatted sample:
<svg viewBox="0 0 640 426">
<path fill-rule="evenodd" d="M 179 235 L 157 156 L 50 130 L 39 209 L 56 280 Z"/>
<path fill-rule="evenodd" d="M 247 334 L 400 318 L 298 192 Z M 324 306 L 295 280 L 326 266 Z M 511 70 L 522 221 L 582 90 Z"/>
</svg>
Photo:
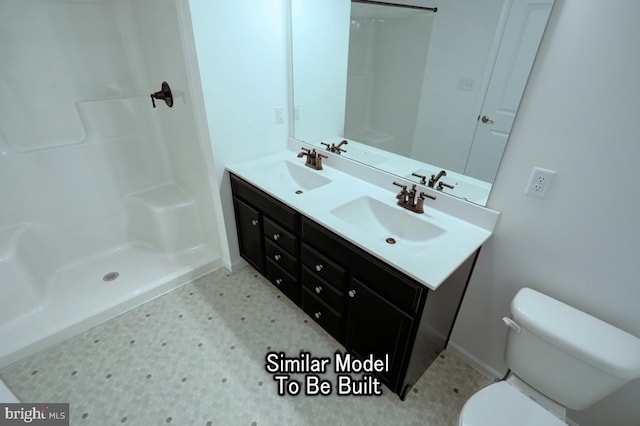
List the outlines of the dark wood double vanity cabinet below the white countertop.
<svg viewBox="0 0 640 426">
<path fill-rule="evenodd" d="M 378 377 L 404 399 L 445 348 L 477 253 L 430 291 L 233 174 L 231 185 L 242 257 L 349 353 L 388 356 Z"/>
</svg>

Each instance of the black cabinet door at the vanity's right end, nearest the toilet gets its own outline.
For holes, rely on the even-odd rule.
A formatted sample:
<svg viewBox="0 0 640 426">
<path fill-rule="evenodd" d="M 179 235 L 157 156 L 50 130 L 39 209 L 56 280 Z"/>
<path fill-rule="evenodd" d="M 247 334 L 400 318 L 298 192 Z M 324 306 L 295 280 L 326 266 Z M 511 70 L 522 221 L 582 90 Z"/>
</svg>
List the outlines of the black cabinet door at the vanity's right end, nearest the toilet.
<svg viewBox="0 0 640 426">
<path fill-rule="evenodd" d="M 393 283 L 389 283 L 392 285 Z M 360 358 L 389 355 L 389 371 L 382 381 L 397 392 L 413 319 L 355 278 L 348 291 L 346 348 Z"/>
</svg>

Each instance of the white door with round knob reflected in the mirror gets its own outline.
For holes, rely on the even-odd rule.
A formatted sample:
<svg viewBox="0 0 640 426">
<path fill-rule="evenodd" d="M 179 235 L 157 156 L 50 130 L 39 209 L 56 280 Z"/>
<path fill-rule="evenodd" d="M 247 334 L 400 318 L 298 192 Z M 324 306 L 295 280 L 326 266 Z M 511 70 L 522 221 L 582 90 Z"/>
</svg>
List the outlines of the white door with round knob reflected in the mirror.
<svg viewBox="0 0 640 426">
<path fill-rule="evenodd" d="M 464 174 L 493 182 L 553 0 L 510 0 Z"/>
</svg>

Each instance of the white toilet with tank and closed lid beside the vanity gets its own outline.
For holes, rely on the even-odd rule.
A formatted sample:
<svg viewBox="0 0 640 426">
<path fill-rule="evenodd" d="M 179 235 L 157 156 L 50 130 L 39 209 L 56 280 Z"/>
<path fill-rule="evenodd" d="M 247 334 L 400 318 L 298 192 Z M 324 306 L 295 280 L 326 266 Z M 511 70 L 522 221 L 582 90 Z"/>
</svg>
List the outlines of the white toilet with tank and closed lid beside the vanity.
<svg viewBox="0 0 640 426">
<path fill-rule="evenodd" d="M 507 380 L 474 394 L 460 426 L 565 426 L 583 410 L 640 377 L 640 339 L 529 288 L 511 302 Z"/>
</svg>

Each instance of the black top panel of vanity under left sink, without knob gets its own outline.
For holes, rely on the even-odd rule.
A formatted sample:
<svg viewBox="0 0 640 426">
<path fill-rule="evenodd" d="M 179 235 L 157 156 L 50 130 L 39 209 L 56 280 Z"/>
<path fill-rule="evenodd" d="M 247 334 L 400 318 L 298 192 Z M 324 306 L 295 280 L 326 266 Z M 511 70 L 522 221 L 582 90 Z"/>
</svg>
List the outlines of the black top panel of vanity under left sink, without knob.
<svg viewBox="0 0 640 426">
<path fill-rule="evenodd" d="M 300 216 L 295 210 L 265 194 L 233 173 L 230 173 L 229 176 L 231 178 L 231 190 L 235 196 L 252 204 L 289 231 L 296 232 L 300 229 Z"/>
</svg>

